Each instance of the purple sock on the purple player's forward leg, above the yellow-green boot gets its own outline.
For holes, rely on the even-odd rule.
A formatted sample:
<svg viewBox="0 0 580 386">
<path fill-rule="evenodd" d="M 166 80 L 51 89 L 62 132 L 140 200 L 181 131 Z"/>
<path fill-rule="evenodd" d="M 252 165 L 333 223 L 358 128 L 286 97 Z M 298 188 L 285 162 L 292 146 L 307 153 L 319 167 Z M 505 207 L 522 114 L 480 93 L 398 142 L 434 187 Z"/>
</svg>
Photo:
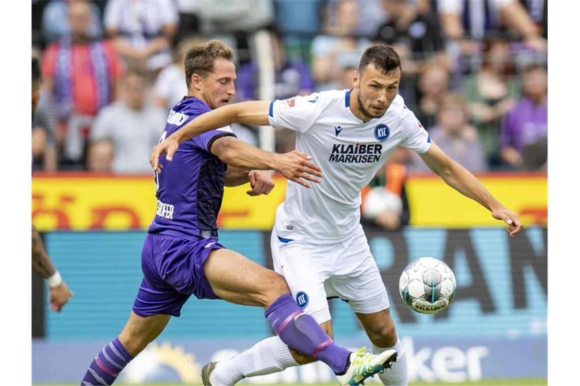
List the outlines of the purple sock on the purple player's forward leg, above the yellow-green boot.
<svg viewBox="0 0 580 386">
<path fill-rule="evenodd" d="M 326 363 L 335 373 L 345 372 L 350 351 L 336 345 L 314 318 L 298 307 L 289 293 L 270 304 L 264 315 L 284 343 Z"/>
</svg>

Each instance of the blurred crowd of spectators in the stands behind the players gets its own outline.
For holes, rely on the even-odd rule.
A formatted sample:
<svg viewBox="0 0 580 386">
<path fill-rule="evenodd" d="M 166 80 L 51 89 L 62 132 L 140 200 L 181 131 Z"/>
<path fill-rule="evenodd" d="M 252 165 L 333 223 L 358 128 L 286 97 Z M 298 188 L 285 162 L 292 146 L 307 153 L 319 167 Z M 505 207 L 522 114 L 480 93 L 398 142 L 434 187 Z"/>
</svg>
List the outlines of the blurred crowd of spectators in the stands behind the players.
<svg viewBox="0 0 580 386">
<path fill-rule="evenodd" d="M 473 172 L 545 170 L 547 12 L 546 0 L 33 0 L 35 169 L 150 172 L 150 149 L 187 93 L 187 49 L 232 46 L 235 101 L 256 99 L 253 38 L 267 31 L 275 98 L 350 89 L 362 51 L 391 45 L 400 94 L 445 152 Z M 234 131 L 259 145 L 255 127 Z M 276 132 L 278 152 L 293 146 L 293 133 Z M 392 160 L 426 170 L 405 149 Z"/>
</svg>

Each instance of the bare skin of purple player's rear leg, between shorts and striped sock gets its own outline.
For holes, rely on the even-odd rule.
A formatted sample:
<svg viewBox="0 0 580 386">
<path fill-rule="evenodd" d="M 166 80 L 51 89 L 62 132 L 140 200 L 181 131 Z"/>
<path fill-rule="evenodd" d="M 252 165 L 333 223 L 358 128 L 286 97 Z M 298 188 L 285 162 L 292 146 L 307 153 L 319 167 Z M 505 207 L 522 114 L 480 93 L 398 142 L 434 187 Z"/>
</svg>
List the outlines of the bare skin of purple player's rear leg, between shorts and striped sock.
<svg viewBox="0 0 580 386">
<path fill-rule="evenodd" d="M 170 318 L 171 315 L 165 314 L 140 317 L 131 311 L 129 321 L 119 334 L 119 341 L 129 354 L 135 356 L 159 336 Z"/>
</svg>

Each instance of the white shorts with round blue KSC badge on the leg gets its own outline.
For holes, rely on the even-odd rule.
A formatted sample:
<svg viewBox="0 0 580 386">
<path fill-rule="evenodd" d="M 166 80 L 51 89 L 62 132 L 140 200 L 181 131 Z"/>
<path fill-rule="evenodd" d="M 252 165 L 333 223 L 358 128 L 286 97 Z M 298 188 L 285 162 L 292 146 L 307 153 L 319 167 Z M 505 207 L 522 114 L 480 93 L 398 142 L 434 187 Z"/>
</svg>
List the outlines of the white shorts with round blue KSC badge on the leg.
<svg viewBox="0 0 580 386">
<path fill-rule="evenodd" d="M 288 282 L 296 303 L 320 324 L 331 319 L 328 300 L 340 297 L 356 313 L 389 308 L 385 284 L 362 227 L 333 244 L 281 241 L 272 231 L 274 270 Z"/>
</svg>

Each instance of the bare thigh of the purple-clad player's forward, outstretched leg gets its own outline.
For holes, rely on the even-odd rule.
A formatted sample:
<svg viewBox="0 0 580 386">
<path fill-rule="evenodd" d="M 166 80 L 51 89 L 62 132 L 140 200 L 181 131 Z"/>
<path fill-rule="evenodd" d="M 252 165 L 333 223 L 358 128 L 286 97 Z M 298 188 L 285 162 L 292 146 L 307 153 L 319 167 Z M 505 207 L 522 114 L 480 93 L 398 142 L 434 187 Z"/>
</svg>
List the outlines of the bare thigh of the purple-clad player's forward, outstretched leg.
<svg viewBox="0 0 580 386">
<path fill-rule="evenodd" d="M 214 249 L 204 263 L 204 273 L 213 292 L 230 303 L 265 308 L 290 292 L 280 274 L 230 249 Z"/>
</svg>

